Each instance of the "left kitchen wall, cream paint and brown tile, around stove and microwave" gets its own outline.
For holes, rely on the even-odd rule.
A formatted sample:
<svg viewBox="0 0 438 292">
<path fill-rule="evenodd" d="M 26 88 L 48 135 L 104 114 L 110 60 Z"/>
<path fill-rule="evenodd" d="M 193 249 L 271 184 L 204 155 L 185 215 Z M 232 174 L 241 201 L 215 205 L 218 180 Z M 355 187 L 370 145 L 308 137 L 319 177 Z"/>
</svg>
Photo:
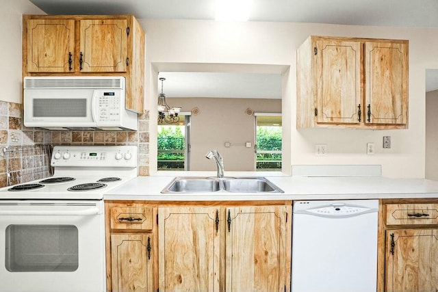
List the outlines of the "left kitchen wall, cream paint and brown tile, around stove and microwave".
<svg viewBox="0 0 438 292">
<path fill-rule="evenodd" d="M 0 4 L 0 37 L 3 40 L 0 43 L 0 187 L 47 176 L 46 172 L 39 172 L 40 166 L 46 165 L 40 152 L 32 150 L 30 155 L 5 155 L 3 148 L 10 146 L 36 146 L 38 149 L 38 146 L 49 144 L 136 145 L 139 148 L 139 174 L 149 175 L 148 111 L 139 116 L 138 132 L 45 131 L 24 127 L 21 107 L 22 15 L 45 13 L 27 0 L 0 0 Z"/>
</svg>

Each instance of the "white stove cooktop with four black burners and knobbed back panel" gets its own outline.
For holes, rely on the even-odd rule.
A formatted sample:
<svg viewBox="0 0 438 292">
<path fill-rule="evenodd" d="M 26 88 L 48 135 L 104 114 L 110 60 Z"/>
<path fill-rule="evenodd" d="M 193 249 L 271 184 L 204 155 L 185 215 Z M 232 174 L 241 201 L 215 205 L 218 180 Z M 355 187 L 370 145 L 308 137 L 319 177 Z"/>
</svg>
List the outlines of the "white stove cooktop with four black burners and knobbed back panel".
<svg viewBox="0 0 438 292">
<path fill-rule="evenodd" d="M 136 146 L 55 146 L 50 178 L 0 188 L 0 200 L 101 200 L 137 176 Z"/>
</svg>

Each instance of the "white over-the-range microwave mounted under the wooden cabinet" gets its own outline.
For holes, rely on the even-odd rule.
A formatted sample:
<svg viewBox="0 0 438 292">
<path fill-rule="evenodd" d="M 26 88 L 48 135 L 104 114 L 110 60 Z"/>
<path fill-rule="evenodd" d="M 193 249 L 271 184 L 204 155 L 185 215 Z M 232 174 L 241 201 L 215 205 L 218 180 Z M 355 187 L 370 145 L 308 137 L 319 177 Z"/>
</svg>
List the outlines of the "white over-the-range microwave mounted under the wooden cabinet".
<svg viewBox="0 0 438 292">
<path fill-rule="evenodd" d="M 24 124 L 49 130 L 138 130 L 125 77 L 25 77 Z"/>
</svg>

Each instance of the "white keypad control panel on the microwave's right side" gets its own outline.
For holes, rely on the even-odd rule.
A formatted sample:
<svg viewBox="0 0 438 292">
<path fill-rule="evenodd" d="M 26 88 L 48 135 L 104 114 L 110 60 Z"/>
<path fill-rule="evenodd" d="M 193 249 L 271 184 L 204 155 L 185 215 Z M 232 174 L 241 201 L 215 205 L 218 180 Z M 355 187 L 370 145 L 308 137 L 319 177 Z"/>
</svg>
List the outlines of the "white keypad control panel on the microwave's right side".
<svg viewBox="0 0 438 292">
<path fill-rule="evenodd" d="M 120 92 L 102 92 L 98 98 L 98 119 L 100 122 L 120 120 Z"/>
</svg>

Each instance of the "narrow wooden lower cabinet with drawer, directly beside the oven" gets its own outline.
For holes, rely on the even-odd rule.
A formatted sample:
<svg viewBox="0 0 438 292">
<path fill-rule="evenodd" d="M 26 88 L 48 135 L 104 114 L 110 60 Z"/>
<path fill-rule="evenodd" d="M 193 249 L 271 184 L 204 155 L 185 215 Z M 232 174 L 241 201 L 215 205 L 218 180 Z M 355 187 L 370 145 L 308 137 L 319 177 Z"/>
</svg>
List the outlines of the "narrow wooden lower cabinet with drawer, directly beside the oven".
<svg viewBox="0 0 438 292">
<path fill-rule="evenodd" d="M 105 202 L 107 292 L 157 291 L 154 213 L 143 202 Z"/>
</svg>

